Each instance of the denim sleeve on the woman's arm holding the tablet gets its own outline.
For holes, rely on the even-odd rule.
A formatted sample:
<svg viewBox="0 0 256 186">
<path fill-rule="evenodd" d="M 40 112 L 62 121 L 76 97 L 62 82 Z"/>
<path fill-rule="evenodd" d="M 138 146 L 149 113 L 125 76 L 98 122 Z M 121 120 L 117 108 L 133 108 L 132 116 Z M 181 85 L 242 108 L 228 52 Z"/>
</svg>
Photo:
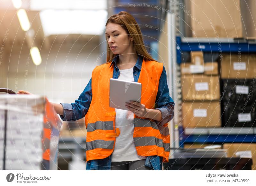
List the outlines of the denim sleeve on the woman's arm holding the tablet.
<svg viewBox="0 0 256 186">
<path fill-rule="evenodd" d="M 162 120 L 156 121 L 156 124 L 164 125 L 164 123 L 168 123 L 172 120 L 174 115 L 174 105 L 174 101 L 172 100 L 172 97 L 170 97 L 169 88 L 167 85 L 166 71 L 163 67 L 163 72 L 159 80 L 155 106 L 155 109 L 160 110 Z"/>
</svg>

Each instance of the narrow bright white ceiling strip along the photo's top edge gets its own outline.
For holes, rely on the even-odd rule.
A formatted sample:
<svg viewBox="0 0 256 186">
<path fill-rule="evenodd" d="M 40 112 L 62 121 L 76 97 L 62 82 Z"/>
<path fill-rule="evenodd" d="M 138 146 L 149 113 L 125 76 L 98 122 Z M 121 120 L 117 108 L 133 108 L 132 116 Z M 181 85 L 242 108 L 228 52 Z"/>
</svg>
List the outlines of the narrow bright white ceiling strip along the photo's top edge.
<svg viewBox="0 0 256 186">
<path fill-rule="evenodd" d="M 102 10 L 107 0 L 30 0 L 30 10 Z"/>
</svg>

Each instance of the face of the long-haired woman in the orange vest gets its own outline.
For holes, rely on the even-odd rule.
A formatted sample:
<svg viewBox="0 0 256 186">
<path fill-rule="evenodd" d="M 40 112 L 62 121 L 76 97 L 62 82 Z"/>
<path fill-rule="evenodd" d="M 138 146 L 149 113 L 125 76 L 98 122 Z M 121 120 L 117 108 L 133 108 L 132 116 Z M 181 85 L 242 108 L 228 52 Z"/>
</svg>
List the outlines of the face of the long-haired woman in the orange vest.
<svg viewBox="0 0 256 186">
<path fill-rule="evenodd" d="M 120 25 L 108 23 L 106 26 L 106 38 L 113 54 L 125 54 L 132 52 L 133 38 Z"/>
</svg>

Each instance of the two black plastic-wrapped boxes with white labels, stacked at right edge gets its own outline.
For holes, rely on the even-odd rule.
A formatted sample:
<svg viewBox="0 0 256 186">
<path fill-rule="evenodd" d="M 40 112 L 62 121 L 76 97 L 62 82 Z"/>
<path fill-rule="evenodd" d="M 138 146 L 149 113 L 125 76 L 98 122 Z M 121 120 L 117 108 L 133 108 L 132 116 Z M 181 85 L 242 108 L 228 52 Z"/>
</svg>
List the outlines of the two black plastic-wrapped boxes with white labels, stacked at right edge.
<svg viewBox="0 0 256 186">
<path fill-rule="evenodd" d="M 222 79 L 221 111 L 223 127 L 256 126 L 256 84 L 255 79 Z M 241 119 L 243 116 L 251 120 Z M 240 116 L 240 118 L 239 118 Z"/>
</svg>

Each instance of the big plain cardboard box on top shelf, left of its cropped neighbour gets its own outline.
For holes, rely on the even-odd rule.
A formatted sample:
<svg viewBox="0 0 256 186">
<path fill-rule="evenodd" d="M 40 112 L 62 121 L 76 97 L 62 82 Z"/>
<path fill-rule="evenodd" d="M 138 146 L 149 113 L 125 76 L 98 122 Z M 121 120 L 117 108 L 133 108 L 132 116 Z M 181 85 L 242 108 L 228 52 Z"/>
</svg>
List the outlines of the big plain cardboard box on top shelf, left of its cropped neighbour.
<svg viewBox="0 0 256 186">
<path fill-rule="evenodd" d="M 187 37 L 243 37 L 239 0 L 236 3 L 223 0 L 185 0 L 185 6 L 182 3 L 179 6 L 188 23 L 185 24 Z"/>
</svg>

